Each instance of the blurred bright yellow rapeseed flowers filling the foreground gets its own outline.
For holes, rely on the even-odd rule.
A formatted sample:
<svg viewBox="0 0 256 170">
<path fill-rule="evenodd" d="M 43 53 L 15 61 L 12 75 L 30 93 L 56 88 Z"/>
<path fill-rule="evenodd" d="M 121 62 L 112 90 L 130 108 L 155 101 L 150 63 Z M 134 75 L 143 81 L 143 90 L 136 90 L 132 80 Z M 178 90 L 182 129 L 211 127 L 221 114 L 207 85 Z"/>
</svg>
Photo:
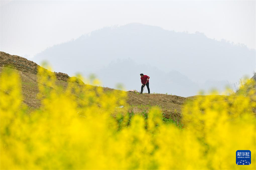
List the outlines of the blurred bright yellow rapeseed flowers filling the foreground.
<svg viewBox="0 0 256 170">
<path fill-rule="evenodd" d="M 4 69 L 0 168 L 256 169 L 255 89 L 247 88 L 254 83 L 247 80 L 234 95 L 198 96 L 187 102 L 180 128 L 164 123 L 156 107 L 147 119 L 130 117 L 118 108 L 126 105 L 121 90 L 104 92 L 73 77 L 63 91 L 54 74 L 42 67 L 41 107 L 28 114 L 19 75 Z M 251 165 L 236 165 L 236 150 L 250 150 Z"/>
</svg>

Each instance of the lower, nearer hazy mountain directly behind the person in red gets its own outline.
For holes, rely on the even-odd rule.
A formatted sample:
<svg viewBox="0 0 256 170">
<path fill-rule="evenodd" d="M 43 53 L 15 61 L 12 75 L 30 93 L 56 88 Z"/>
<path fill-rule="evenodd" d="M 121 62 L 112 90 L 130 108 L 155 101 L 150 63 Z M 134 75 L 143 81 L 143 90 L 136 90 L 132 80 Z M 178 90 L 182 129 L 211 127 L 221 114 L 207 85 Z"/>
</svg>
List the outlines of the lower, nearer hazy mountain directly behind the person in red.
<svg viewBox="0 0 256 170">
<path fill-rule="evenodd" d="M 172 70 L 165 73 L 157 67 L 136 64 L 130 58 L 112 61 L 107 67 L 95 71 L 104 87 L 115 88 L 118 83 L 122 83 L 127 90 L 136 89 L 138 91 L 141 87 L 140 73 L 150 76 L 151 93 L 168 93 L 187 97 L 196 95 L 202 89 L 209 90 L 214 87 L 218 90 L 224 90 L 228 85 L 228 81 L 206 81 L 206 83 L 199 85 L 178 71 Z M 147 93 L 147 89 L 144 92 Z"/>
</svg>

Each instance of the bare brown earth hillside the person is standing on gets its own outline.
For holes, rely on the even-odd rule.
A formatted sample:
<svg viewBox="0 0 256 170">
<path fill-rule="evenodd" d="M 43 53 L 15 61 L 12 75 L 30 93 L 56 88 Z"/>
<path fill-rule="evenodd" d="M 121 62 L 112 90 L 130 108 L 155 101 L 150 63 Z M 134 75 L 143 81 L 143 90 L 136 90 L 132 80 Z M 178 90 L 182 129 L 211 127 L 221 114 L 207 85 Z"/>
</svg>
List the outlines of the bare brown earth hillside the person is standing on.
<svg viewBox="0 0 256 170">
<path fill-rule="evenodd" d="M 10 55 L 8 53 L 0 52 L 0 72 L 3 67 L 9 66 L 19 72 L 22 81 L 22 94 L 24 103 L 28 105 L 31 110 L 40 107 L 40 102 L 36 97 L 38 93 L 37 87 L 37 67 L 35 62 L 27 60 L 17 55 Z M 68 74 L 56 73 L 56 83 L 67 88 Z M 104 91 L 115 90 L 110 88 L 103 88 Z M 134 92 L 127 92 L 127 103 L 129 104 L 129 112 L 139 113 L 142 111 L 148 112 L 151 106 L 159 106 L 166 118 L 171 117 L 173 120 L 181 118 L 181 105 L 185 102 L 185 97 L 166 95 L 166 94 L 137 94 Z M 174 112 L 174 109 L 177 112 Z"/>
</svg>

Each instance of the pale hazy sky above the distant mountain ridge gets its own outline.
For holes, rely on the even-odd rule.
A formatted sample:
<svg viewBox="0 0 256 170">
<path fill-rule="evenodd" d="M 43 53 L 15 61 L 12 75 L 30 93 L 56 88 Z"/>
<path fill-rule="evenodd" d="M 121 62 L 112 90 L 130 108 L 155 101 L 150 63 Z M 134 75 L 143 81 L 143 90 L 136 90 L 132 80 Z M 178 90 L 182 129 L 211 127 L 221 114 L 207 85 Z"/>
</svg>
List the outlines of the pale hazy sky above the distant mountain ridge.
<svg viewBox="0 0 256 170">
<path fill-rule="evenodd" d="M 20 56 L 32 57 L 96 29 L 134 22 L 199 31 L 256 48 L 255 0 L 0 2 L 0 50 Z"/>
</svg>

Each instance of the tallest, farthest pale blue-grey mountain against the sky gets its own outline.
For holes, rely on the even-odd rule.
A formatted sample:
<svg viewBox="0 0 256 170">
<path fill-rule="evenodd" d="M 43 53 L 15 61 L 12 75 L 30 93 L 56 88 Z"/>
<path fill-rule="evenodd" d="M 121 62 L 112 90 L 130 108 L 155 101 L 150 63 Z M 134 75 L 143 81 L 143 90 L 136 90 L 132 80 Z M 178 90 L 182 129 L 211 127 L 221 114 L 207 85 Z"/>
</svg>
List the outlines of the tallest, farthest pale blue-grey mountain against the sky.
<svg viewBox="0 0 256 170">
<path fill-rule="evenodd" d="M 207 80 L 235 82 L 245 74 L 252 76 L 255 54 L 255 50 L 244 45 L 210 39 L 203 33 L 188 34 L 133 23 L 102 28 L 49 47 L 33 60 L 37 63 L 48 60 L 58 72 L 87 75 L 99 72 L 114 60 L 130 58 L 136 64 L 156 67 L 164 75 L 176 70 L 196 84 L 204 84 Z M 134 78 L 130 73 L 133 70 L 123 66 L 116 73 L 122 71 L 132 81 Z M 146 73 L 145 68 L 140 72 Z M 106 84 L 111 84 L 108 80 Z"/>
</svg>

